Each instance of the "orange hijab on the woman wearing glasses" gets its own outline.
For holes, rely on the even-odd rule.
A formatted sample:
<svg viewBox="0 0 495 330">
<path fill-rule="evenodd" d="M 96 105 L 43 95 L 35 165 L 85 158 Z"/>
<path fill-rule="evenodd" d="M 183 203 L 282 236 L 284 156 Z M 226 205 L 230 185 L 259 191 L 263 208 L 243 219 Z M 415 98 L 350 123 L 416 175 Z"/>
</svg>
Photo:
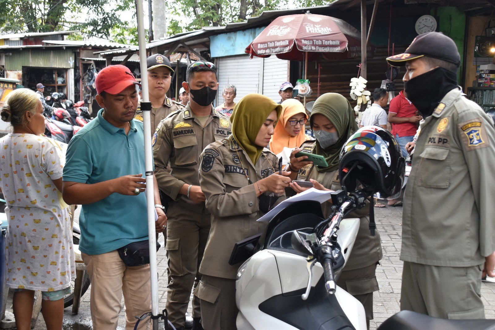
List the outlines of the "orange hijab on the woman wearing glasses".
<svg viewBox="0 0 495 330">
<path fill-rule="evenodd" d="M 270 151 L 275 155 L 281 153 L 282 150 L 284 150 L 284 147 L 298 148 L 304 141 L 306 141 L 304 125 L 301 127 L 301 131 L 297 134 L 297 136 L 292 136 L 285 129 L 287 121 L 297 113 L 303 113 L 305 118 L 308 118 L 304 106 L 299 101 L 295 99 L 288 99 L 282 102 L 282 113 L 280 114 L 280 119 L 277 126 L 275 126 L 275 133 L 272 135 L 272 139 L 270 140 Z"/>
</svg>

